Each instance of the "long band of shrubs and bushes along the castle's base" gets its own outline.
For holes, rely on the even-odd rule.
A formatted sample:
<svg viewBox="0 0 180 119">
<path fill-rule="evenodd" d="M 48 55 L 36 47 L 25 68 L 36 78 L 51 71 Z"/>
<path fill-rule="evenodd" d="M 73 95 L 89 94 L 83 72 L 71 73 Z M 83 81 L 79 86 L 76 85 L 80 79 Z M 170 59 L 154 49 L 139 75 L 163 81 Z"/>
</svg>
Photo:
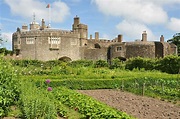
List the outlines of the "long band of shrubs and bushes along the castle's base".
<svg viewBox="0 0 180 119">
<path fill-rule="evenodd" d="M 38 60 L 12 60 L 13 66 L 23 67 L 24 69 L 33 68 L 35 70 L 31 72 L 24 72 L 26 75 L 31 74 L 70 74 L 72 68 L 80 67 L 92 67 L 92 68 L 110 68 L 110 69 L 144 69 L 144 70 L 159 70 L 170 74 L 180 73 L 180 57 L 176 55 L 166 56 L 159 59 L 148 59 L 135 57 L 130 58 L 127 61 L 120 61 L 119 59 L 113 59 L 111 63 L 107 63 L 104 60 L 91 61 L 91 60 L 78 60 L 72 62 L 63 62 L 60 60 L 54 61 L 38 61 Z M 58 71 L 57 71 L 58 70 Z"/>
</svg>

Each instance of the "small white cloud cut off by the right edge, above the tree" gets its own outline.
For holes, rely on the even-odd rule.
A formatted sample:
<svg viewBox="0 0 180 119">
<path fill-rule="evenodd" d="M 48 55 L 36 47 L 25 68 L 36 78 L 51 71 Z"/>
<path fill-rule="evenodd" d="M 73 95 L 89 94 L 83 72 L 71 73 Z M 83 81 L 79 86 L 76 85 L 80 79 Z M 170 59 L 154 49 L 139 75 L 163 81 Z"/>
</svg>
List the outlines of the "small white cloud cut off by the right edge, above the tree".
<svg viewBox="0 0 180 119">
<path fill-rule="evenodd" d="M 167 27 L 175 32 L 180 32 L 180 19 L 171 18 Z"/>
</svg>

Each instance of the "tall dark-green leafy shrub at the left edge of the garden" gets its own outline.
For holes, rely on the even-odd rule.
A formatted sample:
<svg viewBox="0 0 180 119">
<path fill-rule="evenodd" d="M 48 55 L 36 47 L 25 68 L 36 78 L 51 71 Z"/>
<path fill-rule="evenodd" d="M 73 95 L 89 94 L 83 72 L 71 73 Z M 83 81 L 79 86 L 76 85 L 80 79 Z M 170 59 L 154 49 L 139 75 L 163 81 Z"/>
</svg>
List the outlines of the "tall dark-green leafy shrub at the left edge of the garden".
<svg viewBox="0 0 180 119">
<path fill-rule="evenodd" d="M 0 117 L 19 99 L 17 77 L 11 63 L 0 56 Z"/>
</svg>

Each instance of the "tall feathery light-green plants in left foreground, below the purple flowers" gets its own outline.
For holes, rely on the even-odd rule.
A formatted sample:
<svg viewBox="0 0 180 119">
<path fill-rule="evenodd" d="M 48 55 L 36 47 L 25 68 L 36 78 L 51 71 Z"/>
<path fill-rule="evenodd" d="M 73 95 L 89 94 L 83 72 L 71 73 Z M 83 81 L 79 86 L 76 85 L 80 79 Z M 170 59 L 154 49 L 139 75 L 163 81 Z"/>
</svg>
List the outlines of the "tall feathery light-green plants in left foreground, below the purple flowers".
<svg viewBox="0 0 180 119">
<path fill-rule="evenodd" d="M 21 82 L 20 108 L 23 118 L 28 119 L 56 119 L 56 106 L 52 90 L 42 86 L 37 88 L 32 81 Z"/>
</svg>

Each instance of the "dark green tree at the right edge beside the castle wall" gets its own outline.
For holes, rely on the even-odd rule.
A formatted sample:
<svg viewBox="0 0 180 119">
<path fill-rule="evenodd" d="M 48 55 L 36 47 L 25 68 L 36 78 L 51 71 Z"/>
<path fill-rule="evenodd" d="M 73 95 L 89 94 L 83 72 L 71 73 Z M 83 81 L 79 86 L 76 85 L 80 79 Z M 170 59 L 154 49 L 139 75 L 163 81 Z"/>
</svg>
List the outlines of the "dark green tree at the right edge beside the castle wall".
<svg viewBox="0 0 180 119">
<path fill-rule="evenodd" d="M 175 44 L 177 46 L 178 55 L 180 55 L 180 33 L 174 34 L 173 38 L 169 39 L 167 42 Z"/>
</svg>

